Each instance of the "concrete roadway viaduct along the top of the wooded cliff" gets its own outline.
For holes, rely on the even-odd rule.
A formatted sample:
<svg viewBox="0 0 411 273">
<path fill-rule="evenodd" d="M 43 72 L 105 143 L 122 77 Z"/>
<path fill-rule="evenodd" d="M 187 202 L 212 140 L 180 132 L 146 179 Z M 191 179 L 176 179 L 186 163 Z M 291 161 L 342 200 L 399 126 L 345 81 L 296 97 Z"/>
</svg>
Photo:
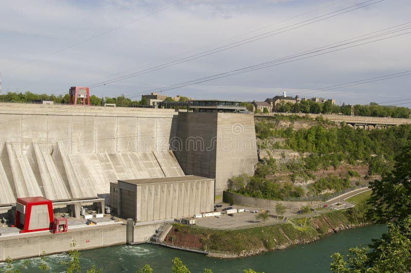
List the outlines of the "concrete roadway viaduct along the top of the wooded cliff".
<svg viewBox="0 0 411 273">
<path fill-rule="evenodd" d="M 352 116 L 352 115 L 336 115 L 336 114 L 304 114 L 304 113 L 270 113 L 270 114 L 256 114 L 254 119 L 270 119 L 275 114 L 283 115 L 300 115 L 308 116 L 315 119 L 317 116 L 323 116 L 325 120 L 336 123 L 345 122 L 353 128 L 363 128 L 366 130 L 386 129 L 389 126 L 398 126 L 401 124 L 411 124 L 411 119 L 397 119 L 397 118 L 379 118 L 376 116 Z"/>
</svg>

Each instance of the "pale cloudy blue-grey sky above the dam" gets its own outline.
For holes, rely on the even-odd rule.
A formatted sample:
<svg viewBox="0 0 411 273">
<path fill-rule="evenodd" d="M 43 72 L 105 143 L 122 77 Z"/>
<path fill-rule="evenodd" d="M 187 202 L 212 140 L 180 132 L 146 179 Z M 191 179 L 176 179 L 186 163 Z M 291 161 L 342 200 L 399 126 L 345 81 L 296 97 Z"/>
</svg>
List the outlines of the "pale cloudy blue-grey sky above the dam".
<svg viewBox="0 0 411 273">
<path fill-rule="evenodd" d="M 70 86 L 90 86 L 90 93 L 99 97 L 124 94 L 140 100 L 141 94 L 158 90 L 170 96 L 239 101 L 264 101 L 286 91 L 291 96 L 335 99 L 338 104 L 411 107 L 411 75 L 324 90 L 411 70 L 411 33 L 406 33 L 411 24 L 390 34 L 401 35 L 382 41 L 164 88 L 411 21 L 409 0 L 368 0 L 362 4 L 367 7 L 311 23 L 366 1 L 1 0 L 2 90 L 64 95 Z M 251 37 L 260 39 L 247 40 Z M 363 43 L 367 41 L 373 40 Z M 229 44 L 236 47 L 227 48 Z M 216 52 L 217 48 L 225 50 Z M 196 59 L 189 60 L 193 55 Z M 177 60 L 184 62 L 173 63 Z M 173 65 L 161 66 L 168 63 Z M 138 71 L 145 73 L 110 81 Z M 400 101 L 405 99 L 410 100 Z"/>
</svg>

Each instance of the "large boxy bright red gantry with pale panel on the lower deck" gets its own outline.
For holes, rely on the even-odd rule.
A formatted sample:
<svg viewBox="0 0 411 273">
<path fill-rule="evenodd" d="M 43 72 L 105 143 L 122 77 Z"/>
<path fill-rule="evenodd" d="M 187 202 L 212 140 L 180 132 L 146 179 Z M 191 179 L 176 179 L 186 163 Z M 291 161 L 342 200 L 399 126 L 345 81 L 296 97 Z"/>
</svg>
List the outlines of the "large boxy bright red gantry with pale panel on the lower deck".
<svg viewBox="0 0 411 273">
<path fill-rule="evenodd" d="M 43 197 L 17 198 L 15 226 L 20 233 L 50 230 L 53 225 L 51 200 Z"/>
</svg>

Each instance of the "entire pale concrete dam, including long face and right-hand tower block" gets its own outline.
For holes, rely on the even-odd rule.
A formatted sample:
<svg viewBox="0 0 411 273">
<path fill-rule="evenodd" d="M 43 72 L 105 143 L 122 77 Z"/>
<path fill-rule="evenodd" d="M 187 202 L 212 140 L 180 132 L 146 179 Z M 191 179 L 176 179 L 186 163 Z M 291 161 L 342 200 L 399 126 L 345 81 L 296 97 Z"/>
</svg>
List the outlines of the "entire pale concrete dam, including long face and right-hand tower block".
<svg viewBox="0 0 411 273">
<path fill-rule="evenodd" d="M 0 204 L 108 201 L 110 182 L 184 174 L 215 179 L 220 199 L 227 180 L 256 162 L 252 115 L 0 104 Z"/>
</svg>

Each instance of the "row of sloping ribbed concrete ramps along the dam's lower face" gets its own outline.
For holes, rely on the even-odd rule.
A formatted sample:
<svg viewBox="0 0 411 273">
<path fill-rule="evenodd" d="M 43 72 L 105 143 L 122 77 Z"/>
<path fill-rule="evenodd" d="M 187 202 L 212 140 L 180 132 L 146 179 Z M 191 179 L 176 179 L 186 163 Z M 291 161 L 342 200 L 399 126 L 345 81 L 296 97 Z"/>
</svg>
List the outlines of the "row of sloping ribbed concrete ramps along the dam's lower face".
<svg viewBox="0 0 411 273">
<path fill-rule="evenodd" d="M 0 204 L 32 196 L 89 198 L 108 194 L 117 180 L 184 175 L 170 151 L 72 153 L 57 142 L 48 153 L 32 142 L 26 149 L 0 144 L 0 155 Z"/>
</svg>

